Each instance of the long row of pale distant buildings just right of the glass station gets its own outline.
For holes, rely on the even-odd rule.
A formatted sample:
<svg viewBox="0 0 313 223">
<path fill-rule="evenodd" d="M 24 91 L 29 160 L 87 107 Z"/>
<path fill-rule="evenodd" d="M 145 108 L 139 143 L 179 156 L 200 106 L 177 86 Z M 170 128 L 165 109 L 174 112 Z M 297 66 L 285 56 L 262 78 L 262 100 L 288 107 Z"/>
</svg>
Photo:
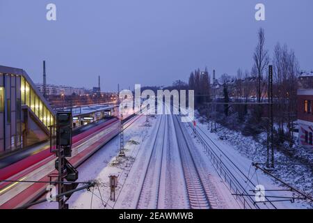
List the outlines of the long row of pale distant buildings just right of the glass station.
<svg viewBox="0 0 313 223">
<path fill-rule="evenodd" d="M 41 93 L 43 93 L 44 86 L 43 84 L 36 84 L 37 88 Z M 59 86 L 54 84 L 47 84 L 46 92 L 47 95 L 83 95 L 86 93 L 84 88 L 75 88 L 72 86 Z"/>
</svg>

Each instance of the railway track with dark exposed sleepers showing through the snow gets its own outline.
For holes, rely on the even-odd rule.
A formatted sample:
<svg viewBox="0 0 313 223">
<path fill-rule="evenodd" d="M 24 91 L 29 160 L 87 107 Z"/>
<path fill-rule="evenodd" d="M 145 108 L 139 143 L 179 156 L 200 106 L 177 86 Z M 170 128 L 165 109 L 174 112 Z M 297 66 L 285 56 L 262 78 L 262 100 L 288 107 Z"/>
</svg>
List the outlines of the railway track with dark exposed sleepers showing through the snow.
<svg viewBox="0 0 313 223">
<path fill-rule="evenodd" d="M 208 198 L 209 187 L 204 180 L 204 174 L 199 171 L 195 165 L 195 160 L 189 148 L 188 141 L 182 130 L 177 116 L 175 116 L 174 124 L 176 126 L 176 138 L 179 146 L 179 155 L 182 162 L 182 169 L 186 183 L 188 201 L 192 209 L 209 209 L 211 204 Z"/>
</svg>

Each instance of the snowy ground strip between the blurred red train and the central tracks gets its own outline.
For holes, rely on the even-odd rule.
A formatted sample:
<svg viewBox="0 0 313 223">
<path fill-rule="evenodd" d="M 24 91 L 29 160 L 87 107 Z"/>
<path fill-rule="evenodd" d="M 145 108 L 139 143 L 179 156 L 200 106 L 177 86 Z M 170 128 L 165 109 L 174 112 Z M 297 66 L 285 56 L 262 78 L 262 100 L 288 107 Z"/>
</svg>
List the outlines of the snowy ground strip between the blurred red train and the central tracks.
<svg viewBox="0 0 313 223">
<path fill-rule="evenodd" d="M 125 157 L 118 157 L 120 137 L 115 137 L 81 164 L 78 168 L 79 179 L 77 181 L 97 180 L 99 187 L 91 188 L 90 191 L 75 192 L 68 201 L 70 208 L 113 208 L 114 203 L 110 201 L 109 176 L 118 176 L 119 182 L 116 191 L 118 197 L 125 183 L 125 178 L 127 178 L 129 170 L 137 159 L 138 151 L 144 150 L 143 142 L 150 137 L 151 128 L 155 121 L 155 118 L 149 118 L 149 122 L 146 123 L 145 116 L 142 116 L 125 130 Z M 58 204 L 45 202 L 32 208 L 58 208 Z"/>
</svg>

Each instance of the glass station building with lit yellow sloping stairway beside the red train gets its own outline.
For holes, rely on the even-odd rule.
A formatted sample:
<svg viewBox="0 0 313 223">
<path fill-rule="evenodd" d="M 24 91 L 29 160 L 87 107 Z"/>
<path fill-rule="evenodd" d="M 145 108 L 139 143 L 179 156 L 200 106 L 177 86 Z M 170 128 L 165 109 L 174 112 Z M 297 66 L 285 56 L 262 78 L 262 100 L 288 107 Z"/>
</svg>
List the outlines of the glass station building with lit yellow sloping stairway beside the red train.
<svg viewBox="0 0 313 223">
<path fill-rule="evenodd" d="M 54 118 L 24 70 L 0 66 L 0 155 L 49 139 Z"/>
</svg>

